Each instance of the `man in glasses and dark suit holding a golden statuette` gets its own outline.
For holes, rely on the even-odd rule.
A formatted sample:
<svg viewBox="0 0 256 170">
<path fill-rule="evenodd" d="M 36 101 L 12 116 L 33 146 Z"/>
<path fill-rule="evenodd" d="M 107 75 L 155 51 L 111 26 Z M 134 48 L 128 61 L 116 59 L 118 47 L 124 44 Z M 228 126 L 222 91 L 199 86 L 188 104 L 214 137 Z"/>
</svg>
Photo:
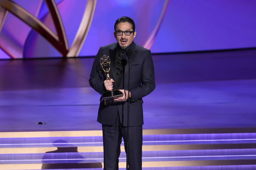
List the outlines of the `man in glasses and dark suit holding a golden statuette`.
<svg viewBox="0 0 256 170">
<path fill-rule="evenodd" d="M 127 108 L 130 96 L 129 116 L 129 154 L 128 165 L 131 170 L 141 170 L 142 166 L 142 97 L 155 89 L 154 65 L 150 50 L 133 42 L 136 36 L 134 21 L 129 17 L 116 20 L 114 36 L 117 43 L 100 47 L 95 57 L 89 83 L 100 94 L 110 90 L 120 90 L 122 97 L 113 104 L 100 102 L 97 121 L 102 124 L 104 169 L 118 170 L 120 144 L 124 138 L 125 152 L 127 141 Z M 130 56 L 130 93 L 128 94 L 128 56 L 126 51 L 132 49 Z M 111 60 L 110 80 L 106 80 L 100 68 L 100 57 L 108 55 Z M 124 62 L 125 61 L 125 62 Z"/>
</svg>

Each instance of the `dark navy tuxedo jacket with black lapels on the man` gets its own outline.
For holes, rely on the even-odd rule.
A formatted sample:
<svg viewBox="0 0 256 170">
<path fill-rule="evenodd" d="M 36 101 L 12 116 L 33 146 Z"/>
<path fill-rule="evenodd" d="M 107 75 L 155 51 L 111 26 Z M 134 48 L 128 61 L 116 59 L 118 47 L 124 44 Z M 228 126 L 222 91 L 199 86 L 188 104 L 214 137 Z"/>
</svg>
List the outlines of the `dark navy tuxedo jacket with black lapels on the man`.
<svg viewBox="0 0 256 170">
<path fill-rule="evenodd" d="M 134 42 L 132 42 L 129 48 L 132 48 L 134 51 L 134 54 L 130 57 L 130 92 L 132 97 L 130 100 L 129 126 L 138 126 L 143 124 L 142 97 L 148 95 L 156 87 L 154 65 L 150 50 Z M 117 43 L 100 47 L 92 65 L 89 83 L 92 88 L 100 94 L 107 91 L 104 86 L 106 76 L 100 65 L 100 57 L 102 55 L 108 55 L 110 57 L 110 78 L 116 80 L 116 50 Z M 129 62 L 127 62 L 125 66 L 124 84 L 123 81 L 119 85 L 116 81 L 113 82 L 113 90 L 128 90 L 128 64 Z M 100 102 L 97 121 L 101 124 L 112 125 L 116 119 L 117 113 L 119 113 L 120 122 L 124 126 L 127 126 L 127 106 L 127 101 L 116 102 L 111 105 L 104 105 L 104 102 Z"/>
</svg>

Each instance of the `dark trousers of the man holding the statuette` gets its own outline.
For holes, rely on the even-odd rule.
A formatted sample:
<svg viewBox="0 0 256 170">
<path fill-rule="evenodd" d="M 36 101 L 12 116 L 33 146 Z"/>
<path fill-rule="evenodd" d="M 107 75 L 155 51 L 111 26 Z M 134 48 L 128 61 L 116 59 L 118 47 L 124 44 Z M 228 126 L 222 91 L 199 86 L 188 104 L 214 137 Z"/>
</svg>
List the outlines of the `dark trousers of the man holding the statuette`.
<svg viewBox="0 0 256 170">
<path fill-rule="evenodd" d="M 124 138 L 124 149 L 127 153 L 127 127 L 119 121 L 118 114 L 113 125 L 103 125 L 104 170 L 118 170 L 120 144 Z M 142 125 L 129 127 L 129 170 L 142 168 Z"/>
</svg>

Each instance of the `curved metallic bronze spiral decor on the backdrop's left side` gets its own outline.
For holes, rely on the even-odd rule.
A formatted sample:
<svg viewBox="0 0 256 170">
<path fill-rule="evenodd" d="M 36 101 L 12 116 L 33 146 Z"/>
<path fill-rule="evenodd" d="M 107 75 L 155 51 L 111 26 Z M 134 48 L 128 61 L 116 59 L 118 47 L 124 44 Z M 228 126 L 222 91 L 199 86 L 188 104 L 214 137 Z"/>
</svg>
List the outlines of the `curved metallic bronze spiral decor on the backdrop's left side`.
<svg viewBox="0 0 256 170">
<path fill-rule="evenodd" d="M 26 23 L 28 26 L 30 26 L 32 29 L 34 29 L 41 36 L 43 36 L 50 44 L 52 44 L 56 50 L 60 52 L 63 57 L 78 56 L 90 29 L 96 2 L 97 0 L 87 1 L 82 21 L 71 47 L 68 47 L 65 28 L 63 26 L 60 13 L 54 0 L 45 0 L 45 3 L 47 4 L 48 10 L 52 16 L 56 34 L 50 28 L 45 26 L 42 21 L 11 0 L 0 0 L 0 32 L 3 27 L 6 15 L 8 12 L 10 12 L 24 23 Z M 42 3 L 40 4 L 42 5 Z M 11 58 L 17 58 L 15 54 L 13 54 L 8 48 L 1 48 L 9 56 L 11 56 Z"/>
</svg>

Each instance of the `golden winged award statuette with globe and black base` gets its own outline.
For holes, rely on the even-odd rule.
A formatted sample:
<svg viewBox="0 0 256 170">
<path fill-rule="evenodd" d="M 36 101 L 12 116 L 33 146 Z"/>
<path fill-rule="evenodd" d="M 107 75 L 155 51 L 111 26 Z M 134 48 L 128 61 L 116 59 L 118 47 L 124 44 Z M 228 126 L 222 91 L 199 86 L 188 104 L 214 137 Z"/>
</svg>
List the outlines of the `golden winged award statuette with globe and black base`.
<svg viewBox="0 0 256 170">
<path fill-rule="evenodd" d="M 106 79 L 110 80 L 110 77 L 109 77 L 109 75 L 110 75 L 110 58 L 108 55 L 103 55 L 100 57 L 100 65 L 106 74 Z M 113 103 L 114 99 L 116 99 L 118 97 L 122 97 L 123 93 L 120 92 L 119 90 L 111 90 L 111 91 L 103 92 L 101 94 L 101 96 L 102 96 L 101 101 L 104 100 L 104 104 L 108 105 L 108 104 Z"/>
</svg>

